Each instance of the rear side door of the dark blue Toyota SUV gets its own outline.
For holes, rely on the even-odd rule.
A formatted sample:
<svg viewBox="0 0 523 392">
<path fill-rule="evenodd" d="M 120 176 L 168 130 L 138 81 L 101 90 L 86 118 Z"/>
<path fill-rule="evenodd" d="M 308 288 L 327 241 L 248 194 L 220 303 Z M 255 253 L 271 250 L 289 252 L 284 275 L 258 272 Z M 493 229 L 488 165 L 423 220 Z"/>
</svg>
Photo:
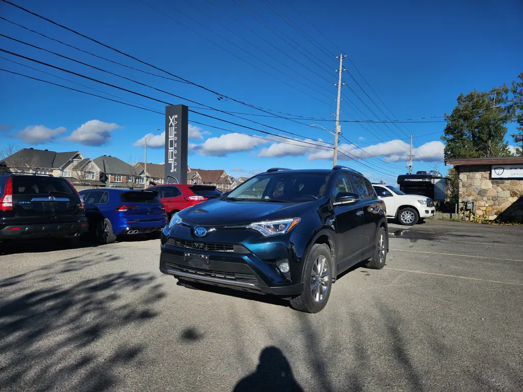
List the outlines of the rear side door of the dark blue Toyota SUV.
<svg viewBox="0 0 523 392">
<path fill-rule="evenodd" d="M 374 196 L 371 183 L 361 176 L 349 174 L 350 181 L 355 193 L 360 197 L 360 205 L 363 209 L 363 245 L 362 250 L 374 246 L 374 240 L 378 233 L 378 223 L 381 219 L 378 198 Z"/>
</svg>

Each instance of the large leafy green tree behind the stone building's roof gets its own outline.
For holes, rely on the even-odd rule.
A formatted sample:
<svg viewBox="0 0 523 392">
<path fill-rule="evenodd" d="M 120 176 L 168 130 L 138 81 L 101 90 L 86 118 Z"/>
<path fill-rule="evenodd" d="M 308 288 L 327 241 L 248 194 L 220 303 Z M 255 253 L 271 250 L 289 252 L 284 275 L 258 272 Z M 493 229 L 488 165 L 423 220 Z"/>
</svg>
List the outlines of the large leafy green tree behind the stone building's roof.
<svg viewBox="0 0 523 392">
<path fill-rule="evenodd" d="M 445 135 L 445 158 L 481 158 L 511 156 L 505 142 L 506 124 L 513 118 L 507 85 L 491 91 L 474 90 L 458 97 L 458 105 L 448 121 Z"/>
</svg>

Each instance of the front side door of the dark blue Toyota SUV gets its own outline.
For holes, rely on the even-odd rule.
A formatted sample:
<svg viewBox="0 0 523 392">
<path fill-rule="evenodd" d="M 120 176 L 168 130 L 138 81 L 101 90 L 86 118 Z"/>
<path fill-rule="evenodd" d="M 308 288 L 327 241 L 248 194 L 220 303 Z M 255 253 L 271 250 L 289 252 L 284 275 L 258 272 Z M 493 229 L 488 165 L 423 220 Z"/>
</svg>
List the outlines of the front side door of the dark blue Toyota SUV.
<svg viewBox="0 0 523 392">
<path fill-rule="evenodd" d="M 336 200 L 339 192 L 353 192 L 353 187 L 345 173 L 340 173 L 334 180 L 331 194 Z M 360 202 L 334 205 L 338 271 L 341 272 L 361 261 L 359 252 L 363 245 L 363 209 Z"/>
</svg>

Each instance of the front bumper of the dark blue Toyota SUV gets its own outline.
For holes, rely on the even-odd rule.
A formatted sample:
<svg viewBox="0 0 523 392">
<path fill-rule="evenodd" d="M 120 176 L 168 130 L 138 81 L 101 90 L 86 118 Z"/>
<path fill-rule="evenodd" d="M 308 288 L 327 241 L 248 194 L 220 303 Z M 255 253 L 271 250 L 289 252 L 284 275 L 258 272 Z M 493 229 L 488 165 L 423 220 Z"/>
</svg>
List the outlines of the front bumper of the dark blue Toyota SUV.
<svg viewBox="0 0 523 392">
<path fill-rule="evenodd" d="M 291 265 L 294 273 L 284 274 L 277 268 L 275 260 L 291 258 L 288 247 L 279 246 L 282 244 L 266 243 L 264 249 L 260 249 L 261 244 L 242 244 L 234 239 L 234 243 L 203 243 L 197 242 L 201 239 L 186 237 L 178 240 L 180 236 L 177 237 L 177 240 L 169 240 L 167 228 L 163 230 L 160 271 L 165 274 L 191 282 L 282 297 L 303 291 L 299 262 Z M 228 237 L 234 237 L 234 233 Z M 259 249 L 258 256 L 264 255 L 265 259 L 257 257 L 244 245 Z M 271 253 L 270 257 L 264 250 Z"/>
</svg>

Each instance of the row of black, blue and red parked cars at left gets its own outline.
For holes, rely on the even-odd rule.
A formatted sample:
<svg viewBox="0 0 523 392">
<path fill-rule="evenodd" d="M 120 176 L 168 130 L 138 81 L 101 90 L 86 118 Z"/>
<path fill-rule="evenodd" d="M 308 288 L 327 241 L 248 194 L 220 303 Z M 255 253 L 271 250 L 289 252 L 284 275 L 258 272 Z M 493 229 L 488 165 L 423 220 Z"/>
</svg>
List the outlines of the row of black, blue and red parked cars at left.
<svg viewBox="0 0 523 392">
<path fill-rule="evenodd" d="M 160 238 L 169 217 L 221 192 L 212 186 L 159 185 L 146 190 L 76 191 L 51 175 L 0 175 L 0 242 L 54 238 L 75 243 L 89 233 L 101 244 L 133 235 Z"/>
</svg>

